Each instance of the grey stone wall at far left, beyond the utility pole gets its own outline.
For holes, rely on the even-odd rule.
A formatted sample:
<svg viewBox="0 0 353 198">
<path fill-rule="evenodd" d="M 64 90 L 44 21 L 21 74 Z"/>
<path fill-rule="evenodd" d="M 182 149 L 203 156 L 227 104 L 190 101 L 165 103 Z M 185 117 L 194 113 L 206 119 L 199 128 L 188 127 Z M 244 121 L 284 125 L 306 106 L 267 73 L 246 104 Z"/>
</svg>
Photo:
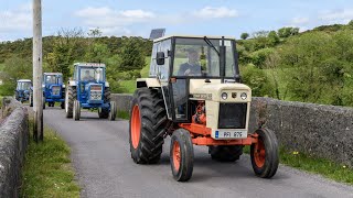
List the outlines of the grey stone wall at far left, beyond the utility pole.
<svg viewBox="0 0 353 198">
<path fill-rule="evenodd" d="M 14 99 L 8 99 L 4 108 L 3 112 L 9 112 L 9 117 L 0 127 L 0 197 L 19 197 L 29 142 L 29 114 Z"/>
</svg>

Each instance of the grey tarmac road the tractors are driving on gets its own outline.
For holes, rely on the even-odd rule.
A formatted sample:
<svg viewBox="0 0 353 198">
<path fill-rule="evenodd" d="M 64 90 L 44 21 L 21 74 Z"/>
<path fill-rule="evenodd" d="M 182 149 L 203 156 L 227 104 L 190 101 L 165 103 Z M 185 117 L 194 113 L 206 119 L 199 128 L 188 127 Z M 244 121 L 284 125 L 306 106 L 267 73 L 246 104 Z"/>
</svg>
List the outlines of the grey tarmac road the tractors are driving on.
<svg viewBox="0 0 353 198">
<path fill-rule="evenodd" d="M 72 147 L 82 197 L 353 197 L 353 187 L 287 166 L 272 179 L 261 179 L 254 176 L 247 155 L 218 163 L 201 146 L 194 147 L 193 177 L 178 183 L 169 164 L 169 138 L 160 164 L 138 165 L 130 157 L 128 121 L 101 120 L 94 112 L 82 117 L 75 122 L 58 108 L 44 110 L 44 123 Z"/>
</svg>

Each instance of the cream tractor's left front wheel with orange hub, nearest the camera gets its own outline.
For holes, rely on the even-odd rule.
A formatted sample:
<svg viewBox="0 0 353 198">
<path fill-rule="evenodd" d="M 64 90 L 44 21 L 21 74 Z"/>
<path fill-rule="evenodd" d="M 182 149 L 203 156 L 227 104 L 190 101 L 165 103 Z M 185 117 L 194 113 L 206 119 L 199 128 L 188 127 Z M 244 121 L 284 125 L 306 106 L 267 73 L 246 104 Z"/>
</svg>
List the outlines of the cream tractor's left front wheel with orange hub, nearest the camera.
<svg viewBox="0 0 353 198">
<path fill-rule="evenodd" d="M 192 176 L 194 150 L 190 132 L 178 129 L 173 132 L 170 143 L 170 164 L 175 180 L 186 182 Z"/>
</svg>

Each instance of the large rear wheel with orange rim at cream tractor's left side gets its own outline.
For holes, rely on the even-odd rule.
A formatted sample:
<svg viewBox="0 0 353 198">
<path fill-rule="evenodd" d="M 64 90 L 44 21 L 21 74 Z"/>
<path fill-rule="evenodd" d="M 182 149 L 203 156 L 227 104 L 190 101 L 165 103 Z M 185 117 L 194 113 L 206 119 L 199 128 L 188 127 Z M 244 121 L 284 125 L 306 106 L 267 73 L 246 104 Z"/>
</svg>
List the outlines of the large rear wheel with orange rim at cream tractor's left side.
<svg viewBox="0 0 353 198">
<path fill-rule="evenodd" d="M 130 111 L 129 142 L 137 164 L 156 164 L 162 154 L 168 128 L 164 101 L 157 89 L 138 88 Z"/>
</svg>

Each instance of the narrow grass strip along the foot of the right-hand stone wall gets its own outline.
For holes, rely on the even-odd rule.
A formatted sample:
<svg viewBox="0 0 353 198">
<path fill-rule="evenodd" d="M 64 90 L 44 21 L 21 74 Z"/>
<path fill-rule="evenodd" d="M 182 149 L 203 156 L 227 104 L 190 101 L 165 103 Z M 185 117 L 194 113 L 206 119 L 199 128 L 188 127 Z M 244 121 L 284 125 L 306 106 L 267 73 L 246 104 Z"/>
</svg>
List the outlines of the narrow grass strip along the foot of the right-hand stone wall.
<svg viewBox="0 0 353 198">
<path fill-rule="evenodd" d="M 244 147 L 244 153 L 250 153 L 250 146 Z M 339 183 L 353 185 L 353 168 L 320 157 L 310 156 L 298 151 L 290 151 L 285 147 L 279 150 L 281 164 L 291 166 L 309 173 L 322 175 Z"/>
</svg>

